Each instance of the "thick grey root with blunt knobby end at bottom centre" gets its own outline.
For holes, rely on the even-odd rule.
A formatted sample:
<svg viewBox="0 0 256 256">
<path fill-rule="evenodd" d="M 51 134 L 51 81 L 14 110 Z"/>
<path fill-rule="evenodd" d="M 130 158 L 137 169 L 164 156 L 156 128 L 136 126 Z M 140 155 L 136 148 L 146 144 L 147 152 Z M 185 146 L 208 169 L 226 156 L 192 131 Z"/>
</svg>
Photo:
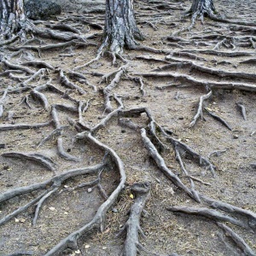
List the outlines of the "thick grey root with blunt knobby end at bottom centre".
<svg viewBox="0 0 256 256">
<path fill-rule="evenodd" d="M 124 256 L 136 256 L 137 251 L 142 247 L 139 242 L 139 234 L 142 236 L 145 235 L 140 227 L 140 218 L 149 192 L 149 183 L 134 183 L 131 186 L 131 193 L 135 195 L 135 201 L 131 206 L 130 217 L 121 230 L 121 232 L 126 230 L 125 247 L 123 250 Z"/>
</svg>

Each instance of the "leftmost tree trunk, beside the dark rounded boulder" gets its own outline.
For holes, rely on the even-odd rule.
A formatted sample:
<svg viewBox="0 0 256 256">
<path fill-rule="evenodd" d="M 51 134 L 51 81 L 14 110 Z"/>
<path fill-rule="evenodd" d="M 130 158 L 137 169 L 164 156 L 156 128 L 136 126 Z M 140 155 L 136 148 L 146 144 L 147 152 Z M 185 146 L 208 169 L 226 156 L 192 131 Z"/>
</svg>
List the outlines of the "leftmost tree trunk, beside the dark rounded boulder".
<svg viewBox="0 0 256 256">
<path fill-rule="evenodd" d="M 0 0 L 0 39 L 9 39 L 16 34 L 22 39 L 25 30 L 24 0 Z"/>
</svg>

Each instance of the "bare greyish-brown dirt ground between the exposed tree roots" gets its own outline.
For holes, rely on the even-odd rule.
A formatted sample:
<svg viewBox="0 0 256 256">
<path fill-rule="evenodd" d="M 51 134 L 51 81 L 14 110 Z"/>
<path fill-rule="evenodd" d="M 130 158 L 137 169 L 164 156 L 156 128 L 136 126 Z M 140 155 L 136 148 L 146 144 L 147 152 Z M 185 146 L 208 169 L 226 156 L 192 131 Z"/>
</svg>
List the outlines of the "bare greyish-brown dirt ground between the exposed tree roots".
<svg viewBox="0 0 256 256">
<path fill-rule="evenodd" d="M 195 188 L 201 195 L 256 212 L 256 94 L 247 90 L 248 86 L 251 86 L 255 91 L 255 78 L 253 75 L 246 75 L 256 73 L 254 15 L 256 2 L 216 1 L 216 8 L 227 19 L 254 22 L 255 26 L 224 23 L 206 18 L 204 24 L 197 20 L 191 31 L 184 31 L 176 35 L 176 38 L 172 36 L 173 32 L 189 26 L 189 18 L 181 18 L 181 13 L 189 9 L 190 1 L 168 1 L 168 4 L 166 5 L 164 1 L 135 1 L 137 23 L 146 36 L 146 40 L 140 44 L 151 49 L 125 50 L 123 56 L 130 61 L 130 66 L 125 70 L 125 74 L 113 92 L 122 98 L 125 110 L 148 108 L 160 127 L 172 131 L 172 137 L 186 143 L 196 153 L 212 162 L 216 167 L 216 177 L 212 177 L 212 173 L 205 166 L 201 166 L 186 152 L 182 152 L 183 164 L 189 175 L 210 183 L 195 181 Z M 54 25 L 58 22 L 79 29 L 81 34 L 99 34 L 102 33 L 100 26 L 104 25 L 104 14 L 81 15 L 66 12 L 38 26 Z M 90 31 L 88 31 L 89 28 Z M 224 44 L 216 47 L 224 38 L 227 38 Z M 230 38 L 234 38 L 233 41 Z M 41 41 L 28 42 L 26 45 L 44 46 L 62 42 L 39 39 Z M 79 119 L 76 102 L 89 102 L 89 108 L 82 113 L 82 118 L 84 125 L 90 128 L 107 115 L 104 111 L 102 90 L 112 81 L 115 73 L 107 81 L 102 81 L 102 75 L 116 71 L 124 64 L 117 60 L 117 63 L 112 65 L 112 56 L 106 53 L 98 61 L 87 67 L 81 67 L 77 71 L 82 73 L 89 83 L 86 84 L 83 79 L 79 81 L 72 79 L 68 76 L 68 72 L 96 57 L 101 37 L 96 36 L 88 42 L 94 45 L 69 45 L 47 50 L 23 49 L 18 52 L 17 47 L 21 43 L 16 42 L 11 45 L 16 47 L 15 50 L 8 47 L 0 48 L 2 57 L 6 56 L 11 63 L 20 63 L 25 67 L 26 61 L 40 60 L 54 67 L 52 70 L 48 68 L 41 79 L 37 78 L 29 82 L 28 90 L 22 90 L 22 86 L 19 87 L 20 90 L 15 90 L 30 74 L 13 73 L 14 76 L 10 77 L 3 73 L 15 68 L 6 67 L 3 62 L 0 66 L 2 96 L 4 90 L 9 87 L 7 96 L 3 101 L 0 100 L 0 105 L 3 106 L 0 126 L 1 193 L 43 182 L 67 170 L 95 166 L 105 158 L 102 148 L 86 141 L 74 141 L 78 131 L 75 125 L 70 125 L 70 120 Z M 159 51 L 153 52 L 153 48 Z M 18 54 L 14 55 L 17 52 Z M 200 68 L 192 67 L 192 62 L 196 67 L 224 71 L 224 73 L 230 73 L 230 76 L 204 72 Z M 39 67 L 29 68 L 34 72 L 39 69 Z M 85 93 L 81 95 L 77 90 L 67 90 L 60 82 L 58 69 L 62 69 L 70 81 L 83 88 Z M 171 73 L 172 75 L 160 77 L 152 73 Z M 181 78 L 181 75 L 189 76 L 202 83 L 192 83 L 191 80 Z M 137 80 L 131 79 L 137 77 L 143 79 L 144 93 Z M 50 82 L 49 79 L 51 79 Z M 39 97 L 41 99 L 39 101 L 37 96 L 32 96 L 31 91 L 47 82 L 61 91 L 66 91 L 70 97 L 64 97 L 53 90 L 42 90 L 49 102 L 49 106 L 44 106 L 42 97 Z M 207 87 L 204 86 L 207 83 L 247 84 L 246 88 L 242 86 L 238 88 L 234 85 L 233 87 L 236 87 L 234 90 L 231 87 L 230 89 L 212 87 L 212 96 L 204 102 L 204 106 L 211 113 L 225 120 L 231 130 L 218 119 L 212 118 L 207 110 L 203 110 L 204 119 L 198 119 L 193 127 L 189 127 L 197 112 L 200 97 L 207 94 Z M 15 90 L 15 93 L 10 92 L 11 90 Z M 24 99 L 27 99 L 28 104 Z M 114 109 L 119 107 L 113 98 L 111 102 Z M 237 103 L 245 107 L 246 120 Z M 67 108 L 60 110 L 58 118 L 61 125 L 65 126 L 61 134 L 63 146 L 68 154 L 76 156 L 79 161 L 65 160 L 58 154 L 56 148 L 58 136 L 53 136 L 38 147 L 38 143 L 55 129 L 52 123 L 38 129 L 3 129 L 8 125 L 10 127 L 48 122 L 51 119 L 50 106 L 53 104 L 66 104 L 76 109 L 75 111 L 72 108 L 70 111 Z M 127 119 L 125 120 L 127 122 Z M 137 117 L 129 117 L 129 120 L 140 127 L 148 125 L 145 113 Z M 166 166 L 189 186 L 189 179 L 176 160 L 172 144 L 160 134 L 158 135 L 167 147 L 161 154 L 166 161 Z M 105 127 L 96 132 L 96 139 L 113 148 L 123 161 L 127 178 L 125 189 L 107 212 L 103 232 L 91 230 L 89 234 L 79 239 L 77 248 L 67 249 L 61 255 L 121 254 L 125 236 L 117 236 L 117 234 L 129 217 L 129 210 L 134 202 L 131 185 L 139 182 L 151 184 L 150 197 L 144 207 L 147 214 L 143 214 L 141 218 L 141 228 L 145 237 L 140 237 L 140 242 L 147 250 L 142 251 L 142 255 L 244 255 L 236 243 L 229 236 L 225 236 L 224 230 L 214 220 L 166 210 L 167 207 L 172 206 L 207 207 L 207 204 L 195 202 L 160 172 L 160 168 L 144 147 L 139 129 L 131 129 L 124 125 L 119 117 L 114 117 Z M 216 151 L 222 153 L 212 154 Z M 37 164 L 34 160 L 27 160 L 24 155 L 21 158 L 4 156 L 11 152 L 44 155 L 55 163 L 55 172 L 49 171 L 49 168 Z M 96 174 L 92 173 L 67 179 L 53 195 L 44 201 L 37 224 L 32 225 L 36 209 L 34 204 L 25 212 L 10 219 L 8 223 L 1 225 L 0 255 L 12 253 L 16 253 L 12 255 L 29 255 L 29 253 L 44 255 L 70 233 L 89 223 L 104 202 L 104 198 L 96 186 L 75 187 L 95 178 Z M 101 185 L 107 195 L 111 195 L 118 184 L 119 172 L 116 168 L 108 168 L 102 172 Z M 26 205 L 42 192 L 44 189 L 3 201 L 0 204 L 0 218 Z M 230 223 L 227 225 L 256 252 L 256 236 L 252 230 Z M 22 252 L 23 254 L 19 254 Z"/>
</svg>

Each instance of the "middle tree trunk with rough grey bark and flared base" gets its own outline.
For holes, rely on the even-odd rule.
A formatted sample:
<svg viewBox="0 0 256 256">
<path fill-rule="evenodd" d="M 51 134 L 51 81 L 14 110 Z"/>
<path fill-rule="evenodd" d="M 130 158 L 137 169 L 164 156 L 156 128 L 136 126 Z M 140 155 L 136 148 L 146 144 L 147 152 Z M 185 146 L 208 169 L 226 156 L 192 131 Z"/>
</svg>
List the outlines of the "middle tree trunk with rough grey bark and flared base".
<svg viewBox="0 0 256 256">
<path fill-rule="evenodd" d="M 106 0 L 104 38 L 101 49 L 109 47 L 114 54 L 124 47 L 134 49 L 136 39 L 143 40 L 133 12 L 133 0 Z"/>
</svg>

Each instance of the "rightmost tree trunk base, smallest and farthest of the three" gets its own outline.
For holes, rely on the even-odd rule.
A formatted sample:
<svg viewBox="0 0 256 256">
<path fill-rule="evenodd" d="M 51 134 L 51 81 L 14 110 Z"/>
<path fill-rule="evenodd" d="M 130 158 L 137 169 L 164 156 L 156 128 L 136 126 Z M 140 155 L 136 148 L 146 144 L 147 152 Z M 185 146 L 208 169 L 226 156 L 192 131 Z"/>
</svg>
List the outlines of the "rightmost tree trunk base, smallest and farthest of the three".
<svg viewBox="0 0 256 256">
<path fill-rule="evenodd" d="M 203 17 L 208 15 L 210 18 L 217 14 L 213 0 L 193 0 L 189 13 Z"/>
</svg>

